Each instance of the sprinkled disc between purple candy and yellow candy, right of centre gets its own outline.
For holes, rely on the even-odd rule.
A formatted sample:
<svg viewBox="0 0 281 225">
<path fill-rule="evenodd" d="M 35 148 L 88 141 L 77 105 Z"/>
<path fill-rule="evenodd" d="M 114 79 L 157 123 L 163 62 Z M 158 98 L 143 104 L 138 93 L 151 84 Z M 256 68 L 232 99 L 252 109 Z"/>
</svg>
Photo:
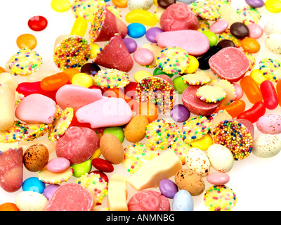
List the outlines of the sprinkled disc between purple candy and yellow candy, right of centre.
<svg viewBox="0 0 281 225">
<path fill-rule="evenodd" d="M 203 136 L 208 134 L 209 120 L 202 115 L 192 117 L 183 123 L 181 128 L 181 139 L 186 143 L 202 139 Z"/>
</svg>

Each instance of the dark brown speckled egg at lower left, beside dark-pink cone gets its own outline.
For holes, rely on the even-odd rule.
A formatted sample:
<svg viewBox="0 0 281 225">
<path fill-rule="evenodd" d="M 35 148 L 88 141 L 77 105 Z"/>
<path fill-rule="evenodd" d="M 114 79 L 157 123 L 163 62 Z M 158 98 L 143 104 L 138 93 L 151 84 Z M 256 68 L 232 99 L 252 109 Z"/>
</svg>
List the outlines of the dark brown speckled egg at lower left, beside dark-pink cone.
<svg viewBox="0 0 281 225">
<path fill-rule="evenodd" d="M 37 143 L 25 150 L 23 165 L 30 172 L 39 172 L 47 165 L 48 158 L 48 148 L 41 143 Z"/>
</svg>

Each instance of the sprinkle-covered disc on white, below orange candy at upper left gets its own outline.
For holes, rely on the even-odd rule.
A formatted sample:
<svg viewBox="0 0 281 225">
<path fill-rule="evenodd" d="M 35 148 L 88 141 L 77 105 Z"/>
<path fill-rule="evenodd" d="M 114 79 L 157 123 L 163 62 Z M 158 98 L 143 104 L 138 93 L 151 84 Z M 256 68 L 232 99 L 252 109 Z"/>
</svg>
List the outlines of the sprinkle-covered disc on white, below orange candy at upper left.
<svg viewBox="0 0 281 225">
<path fill-rule="evenodd" d="M 28 76 L 36 72 L 43 64 L 41 56 L 30 49 L 21 49 L 6 63 L 6 71 L 15 76 Z"/>
</svg>

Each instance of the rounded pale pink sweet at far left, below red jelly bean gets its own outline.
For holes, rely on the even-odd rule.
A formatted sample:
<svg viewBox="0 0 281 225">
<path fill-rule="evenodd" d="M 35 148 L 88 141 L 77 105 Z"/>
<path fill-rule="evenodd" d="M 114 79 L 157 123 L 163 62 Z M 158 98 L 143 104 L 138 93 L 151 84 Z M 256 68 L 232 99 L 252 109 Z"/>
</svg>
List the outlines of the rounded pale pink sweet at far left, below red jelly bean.
<svg viewBox="0 0 281 225">
<path fill-rule="evenodd" d="M 42 94 L 26 96 L 15 108 L 15 117 L 27 123 L 51 124 L 57 111 L 53 99 Z"/>
</svg>

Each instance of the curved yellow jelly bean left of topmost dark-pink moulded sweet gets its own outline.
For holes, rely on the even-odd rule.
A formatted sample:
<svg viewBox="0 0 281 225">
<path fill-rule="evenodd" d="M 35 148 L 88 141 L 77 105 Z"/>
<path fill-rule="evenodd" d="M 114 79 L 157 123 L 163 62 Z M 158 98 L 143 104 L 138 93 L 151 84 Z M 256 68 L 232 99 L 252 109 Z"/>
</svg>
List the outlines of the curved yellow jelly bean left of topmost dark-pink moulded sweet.
<svg viewBox="0 0 281 225">
<path fill-rule="evenodd" d="M 157 18 L 153 13 L 143 9 L 132 10 L 126 14 L 125 20 L 127 23 L 141 23 L 143 25 L 155 26 Z"/>
</svg>

